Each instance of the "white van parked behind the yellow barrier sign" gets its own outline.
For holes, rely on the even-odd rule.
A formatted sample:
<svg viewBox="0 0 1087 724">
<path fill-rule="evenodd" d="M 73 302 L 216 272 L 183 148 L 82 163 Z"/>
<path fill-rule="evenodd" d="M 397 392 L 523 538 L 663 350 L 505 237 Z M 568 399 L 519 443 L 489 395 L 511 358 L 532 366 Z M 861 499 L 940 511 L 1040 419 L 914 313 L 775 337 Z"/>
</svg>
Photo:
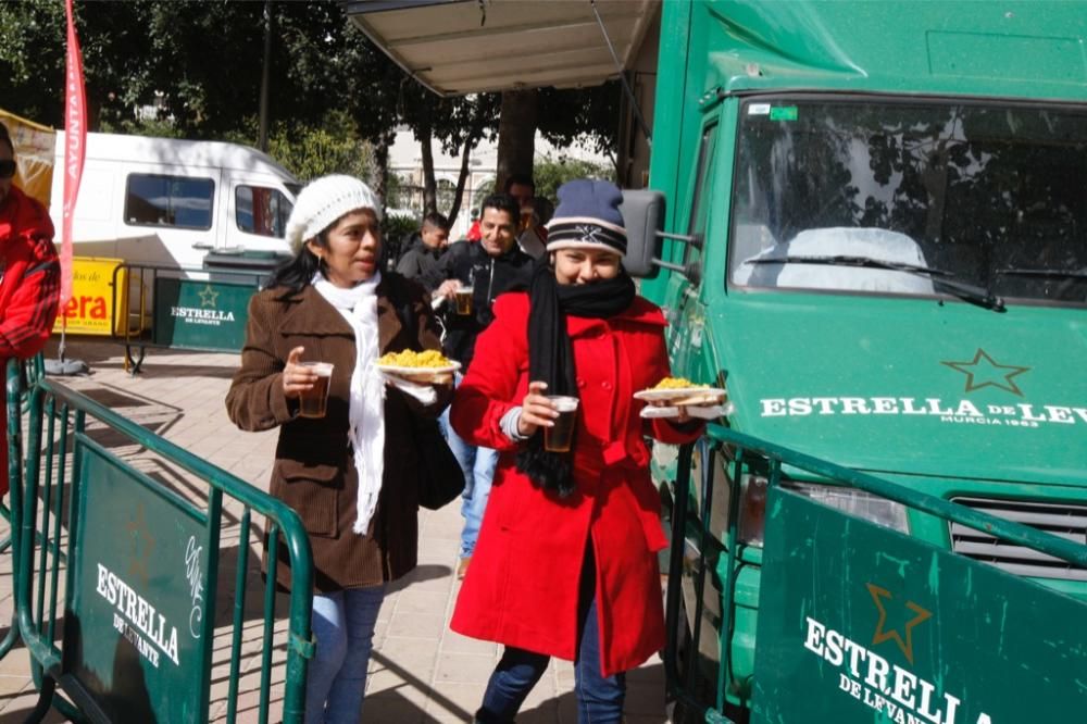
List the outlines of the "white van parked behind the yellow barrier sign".
<svg viewBox="0 0 1087 724">
<path fill-rule="evenodd" d="M 50 215 L 63 219 L 64 133 L 57 133 Z M 87 134 L 72 226 L 77 257 L 188 269 L 209 252 L 288 254 L 284 229 L 300 185 L 266 153 L 237 143 Z"/>
</svg>

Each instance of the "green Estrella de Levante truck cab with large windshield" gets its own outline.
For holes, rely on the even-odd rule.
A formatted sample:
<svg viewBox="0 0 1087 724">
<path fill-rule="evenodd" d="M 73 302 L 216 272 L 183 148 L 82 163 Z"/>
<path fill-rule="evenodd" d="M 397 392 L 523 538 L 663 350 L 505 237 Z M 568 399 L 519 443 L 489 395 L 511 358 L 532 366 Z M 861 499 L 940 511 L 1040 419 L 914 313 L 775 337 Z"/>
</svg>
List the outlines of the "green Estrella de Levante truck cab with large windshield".
<svg viewBox="0 0 1087 724">
<path fill-rule="evenodd" d="M 673 374 L 726 387 L 730 429 L 1087 541 L 1084 7 L 662 12 L 649 185 L 664 238 L 632 252 L 657 260 L 641 290 L 665 309 Z M 742 707 L 767 480 L 728 480 L 727 446 L 702 452 L 692 464 L 713 469 L 695 477 L 719 485 L 701 523 L 722 541 L 739 510 L 738 567 L 686 582 L 684 623 L 709 632 L 692 644 L 708 689 L 725 666 L 727 701 Z M 667 485 L 674 467 L 661 451 L 662 489 L 686 495 Z M 782 475 L 823 504 L 1087 599 L 1087 571 L 1063 560 Z"/>
</svg>

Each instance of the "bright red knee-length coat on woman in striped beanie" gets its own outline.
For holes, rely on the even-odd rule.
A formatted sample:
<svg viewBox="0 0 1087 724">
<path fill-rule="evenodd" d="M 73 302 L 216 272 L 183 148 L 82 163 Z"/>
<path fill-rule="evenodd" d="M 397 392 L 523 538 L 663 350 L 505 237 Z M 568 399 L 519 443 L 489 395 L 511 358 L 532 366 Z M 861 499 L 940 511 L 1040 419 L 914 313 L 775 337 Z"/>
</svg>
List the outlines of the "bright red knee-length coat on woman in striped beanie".
<svg viewBox="0 0 1087 724">
<path fill-rule="evenodd" d="M 569 319 L 582 401 L 577 489 L 559 499 L 517 472 L 517 444 L 499 426 L 528 389 L 528 297 L 495 302 L 450 413 L 462 437 L 501 453 L 453 631 L 574 660 L 578 577 L 591 536 L 603 674 L 634 669 L 663 647 L 657 552 L 666 539 L 642 436 L 685 442 L 701 433 L 638 416 L 644 403 L 634 392 L 669 375 L 664 326 L 661 311 L 640 297 L 609 320 Z"/>
</svg>

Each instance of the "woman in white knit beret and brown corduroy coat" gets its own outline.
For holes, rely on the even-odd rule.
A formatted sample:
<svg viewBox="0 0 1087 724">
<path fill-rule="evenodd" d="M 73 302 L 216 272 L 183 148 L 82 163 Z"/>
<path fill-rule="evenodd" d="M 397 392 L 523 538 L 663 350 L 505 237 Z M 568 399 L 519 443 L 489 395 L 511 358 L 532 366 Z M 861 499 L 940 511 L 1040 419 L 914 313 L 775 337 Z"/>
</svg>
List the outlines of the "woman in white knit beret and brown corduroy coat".
<svg viewBox="0 0 1087 724">
<path fill-rule="evenodd" d="M 308 723 L 360 719 L 385 584 L 415 567 L 412 415 L 437 415 L 451 394 L 387 386 L 374 369 L 388 351 L 440 349 L 426 292 L 378 271 L 379 209 L 350 176 L 302 190 L 287 222 L 295 259 L 250 302 L 241 369 L 226 398 L 242 429 L 279 427 L 271 491 L 310 534 L 317 646 Z M 334 365 L 322 417 L 299 415 L 299 396 L 317 378 L 303 360 Z M 287 585 L 286 550 L 278 556 L 278 583 Z"/>
</svg>

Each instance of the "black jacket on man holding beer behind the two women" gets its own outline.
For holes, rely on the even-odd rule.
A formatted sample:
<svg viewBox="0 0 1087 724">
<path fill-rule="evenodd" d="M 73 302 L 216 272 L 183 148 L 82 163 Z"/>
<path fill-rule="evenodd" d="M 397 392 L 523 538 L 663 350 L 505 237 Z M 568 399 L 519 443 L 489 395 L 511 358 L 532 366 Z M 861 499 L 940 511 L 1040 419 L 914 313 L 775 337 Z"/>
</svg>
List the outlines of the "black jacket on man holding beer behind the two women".
<svg viewBox="0 0 1087 724">
<path fill-rule="evenodd" d="M 458 279 L 471 285 L 472 314 L 458 314 L 452 303 L 445 307 L 446 355 L 467 371 L 475 351 L 475 339 L 493 321 L 491 304 L 503 291 L 528 283 L 533 259 L 517 245 L 501 257 L 490 257 L 480 242 L 458 241 L 446 249 L 438 261 L 442 279 Z"/>
</svg>

